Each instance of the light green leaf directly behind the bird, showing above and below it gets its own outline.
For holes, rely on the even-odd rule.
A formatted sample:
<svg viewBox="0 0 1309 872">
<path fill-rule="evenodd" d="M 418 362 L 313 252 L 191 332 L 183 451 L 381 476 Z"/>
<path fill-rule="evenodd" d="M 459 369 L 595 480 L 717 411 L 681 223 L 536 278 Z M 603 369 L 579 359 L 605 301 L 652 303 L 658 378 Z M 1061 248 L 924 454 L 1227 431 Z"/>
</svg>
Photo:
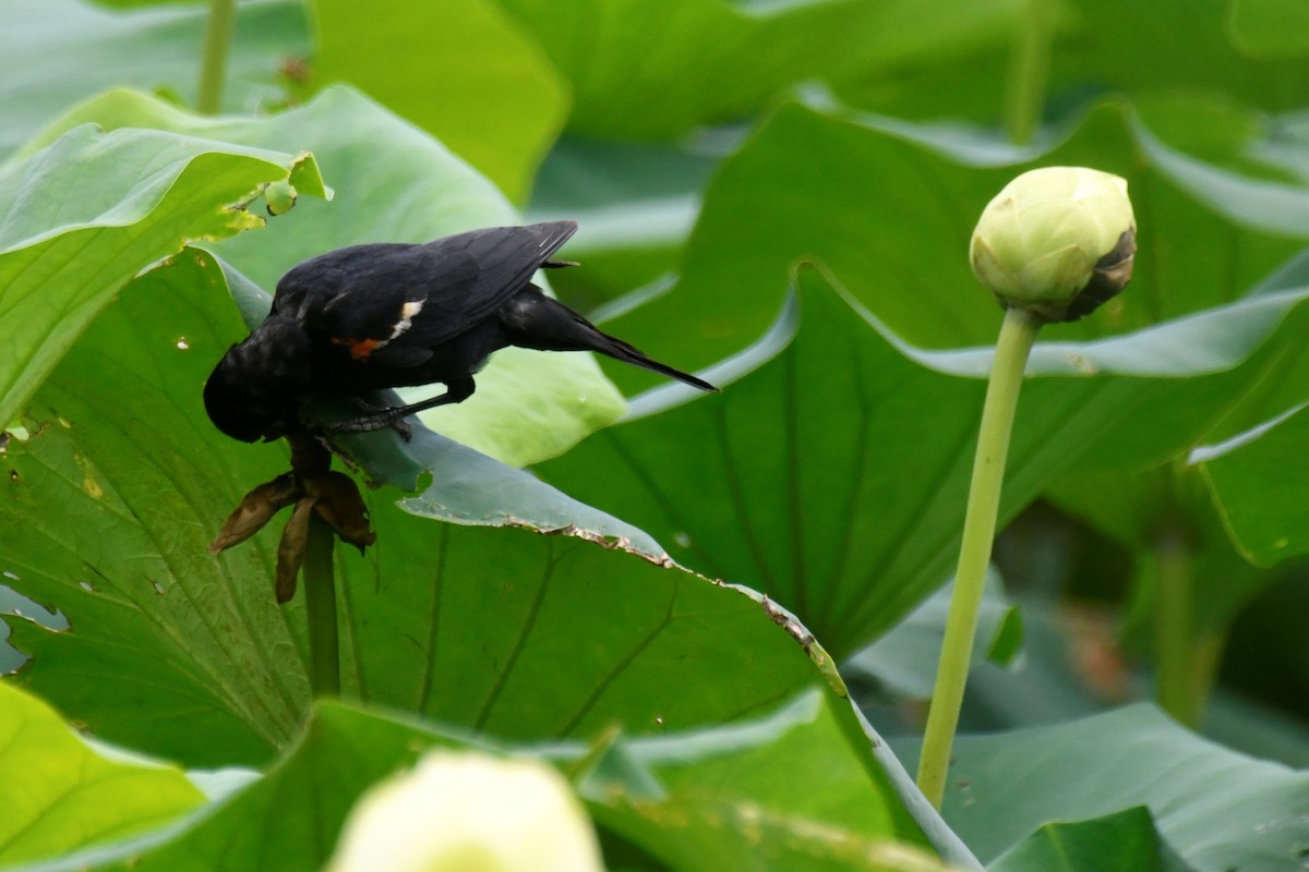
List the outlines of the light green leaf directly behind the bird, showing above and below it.
<svg viewBox="0 0 1309 872">
<path fill-rule="evenodd" d="M 266 289 L 296 263 L 329 248 L 378 241 L 425 242 L 475 226 L 520 222 L 504 196 L 440 143 L 343 86 L 264 119 L 199 118 L 143 94 L 113 92 L 79 107 L 51 132 L 86 120 L 105 127 L 160 127 L 262 148 L 309 149 L 331 167 L 336 192 L 331 204 L 302 203 L 293 227 L 278 222 L 255 244 L 232 241 L 220 246 L 224 258 Z M 240 337 L 237 331 L 229 341 Z M 432 392 L 411 390 L 407 396 L 414 401 Z M 476 395 L 432 409 L 424 420 L 458 442 L 524 464 L 565 450 L 611 422 L 622 409 L 622 397 L 589 354 L 509 348 L 478 377 Z"/>
</svg>

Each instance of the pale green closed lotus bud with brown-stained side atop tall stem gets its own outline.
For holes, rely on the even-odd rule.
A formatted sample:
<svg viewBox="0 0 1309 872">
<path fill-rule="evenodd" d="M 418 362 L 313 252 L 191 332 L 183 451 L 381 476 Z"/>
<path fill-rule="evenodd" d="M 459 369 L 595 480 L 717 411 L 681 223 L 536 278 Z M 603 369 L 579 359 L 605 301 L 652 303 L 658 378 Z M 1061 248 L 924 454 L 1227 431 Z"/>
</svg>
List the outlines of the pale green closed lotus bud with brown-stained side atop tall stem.
<svg viewBox="0 0 1309 872">
<path fill-rule="evenodd" d="M 973 231 L 973 273 L 1000 305 L 1046 322 L 1090 314 L 1132 277 L 1136 221 L 1127 180 L 1080 166 L 1024 173 Z"/>
</svg>

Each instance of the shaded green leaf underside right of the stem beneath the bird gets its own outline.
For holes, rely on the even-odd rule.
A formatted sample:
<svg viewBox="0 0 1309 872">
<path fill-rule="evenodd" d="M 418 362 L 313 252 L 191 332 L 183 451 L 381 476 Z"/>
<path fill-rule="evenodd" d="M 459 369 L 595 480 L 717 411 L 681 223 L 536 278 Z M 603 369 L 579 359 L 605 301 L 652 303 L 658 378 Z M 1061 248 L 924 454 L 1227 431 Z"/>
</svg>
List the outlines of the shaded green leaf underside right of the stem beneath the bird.
<svg viewBox="0 0 1309 872">
<path fill-rule="evenodd" d="M 541 739 L 733 720 L 813 676 L 757 595 L 575 539 L 374 511 L 376 563 L 340 574 L 364 698 Z"/>
</svg>

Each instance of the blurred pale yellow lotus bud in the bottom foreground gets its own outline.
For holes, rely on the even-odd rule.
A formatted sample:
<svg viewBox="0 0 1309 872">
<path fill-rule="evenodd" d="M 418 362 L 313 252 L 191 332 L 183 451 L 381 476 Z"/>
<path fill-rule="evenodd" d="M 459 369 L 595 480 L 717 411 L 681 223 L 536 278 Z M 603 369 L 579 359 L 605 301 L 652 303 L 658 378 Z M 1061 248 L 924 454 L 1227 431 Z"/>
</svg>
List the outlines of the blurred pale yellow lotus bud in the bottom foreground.
<svg viewBox="0 0 1309 872">
<path fill-rule="evenodd" d="M 534 760 L 436 750 L 367 792 L 327 872 L 602 872 L 590 818 Z"/>
</svg>

